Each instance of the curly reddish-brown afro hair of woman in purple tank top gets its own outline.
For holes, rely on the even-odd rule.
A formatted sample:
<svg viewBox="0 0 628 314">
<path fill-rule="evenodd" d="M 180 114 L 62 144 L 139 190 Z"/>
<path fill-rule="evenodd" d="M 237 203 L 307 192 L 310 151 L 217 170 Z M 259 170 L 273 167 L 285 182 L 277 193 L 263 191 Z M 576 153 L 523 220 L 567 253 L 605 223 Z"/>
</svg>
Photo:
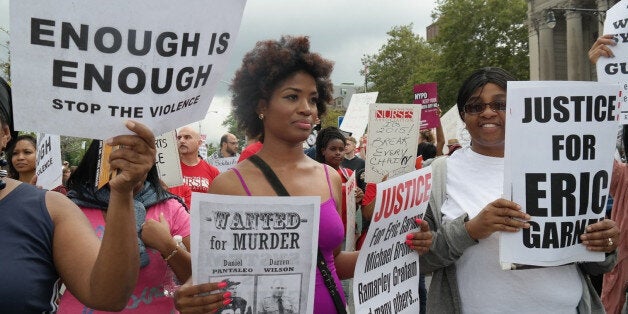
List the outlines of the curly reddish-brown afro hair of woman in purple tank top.
<svg viewBox="0 0 628 314">
<path fill-rule="evenodd" d="M 279 41 L 257 42 L 244 56 L 229 88 L 238 126 L 250 137 L 263 135 L 264 125 L 257 115 L 259 101 L 269 100 L 279 84 L 299 71 L 314 77 L 318 91 L 316 108 L 322 116 L 333 100 L 329 77 L 333 68 L 332 61 L 310 52 L 308 37 L 282 36 Z"/>
</svg>

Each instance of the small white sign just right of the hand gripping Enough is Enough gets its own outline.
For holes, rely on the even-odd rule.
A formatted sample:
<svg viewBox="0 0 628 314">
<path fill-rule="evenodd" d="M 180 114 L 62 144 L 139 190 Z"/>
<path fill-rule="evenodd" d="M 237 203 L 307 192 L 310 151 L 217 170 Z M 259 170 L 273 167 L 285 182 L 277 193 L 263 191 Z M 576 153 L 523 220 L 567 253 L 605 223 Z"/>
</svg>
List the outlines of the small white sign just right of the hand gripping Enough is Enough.
<svg viewBox="0 0 628 314">
<path fill-rule="evenodd" d="M 167 186 L 179 186 L 183 184 L 181 174 L 181 162 L 179 160 L 179 150 L 177 149 L 177 133 L 170 131 L 155 137 L 155 147 L 157 148 L 157 172 L 159 179 Z"/>
</svg>

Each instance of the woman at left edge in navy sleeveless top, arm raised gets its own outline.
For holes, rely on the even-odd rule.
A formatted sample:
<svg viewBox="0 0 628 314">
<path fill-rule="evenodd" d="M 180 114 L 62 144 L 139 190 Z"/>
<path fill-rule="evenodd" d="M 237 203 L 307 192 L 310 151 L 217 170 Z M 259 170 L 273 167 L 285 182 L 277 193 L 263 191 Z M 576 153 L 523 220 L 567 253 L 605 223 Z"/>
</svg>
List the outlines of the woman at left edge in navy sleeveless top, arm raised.
<svg viewBox="0 0 628 314">
<path fill-rule="evenodd" d="M 11 139 L 11 90 L 0 79 L 0 149 Z M 119 172 L 109 182 L 107 234 L 99 241 L 81 210 L 56 192 L 13 179 L 0 183 L 0 309 L 5 313 L 51 313 L 59 279 L 92 308 L 119 311 L 137 281 L 139 254 L 133 187 L 155 163 L 155 137 L 144 125 L 127 122 L 135 135 L 107 145 L 124 145 L 109 162 Z"/>
</svg>

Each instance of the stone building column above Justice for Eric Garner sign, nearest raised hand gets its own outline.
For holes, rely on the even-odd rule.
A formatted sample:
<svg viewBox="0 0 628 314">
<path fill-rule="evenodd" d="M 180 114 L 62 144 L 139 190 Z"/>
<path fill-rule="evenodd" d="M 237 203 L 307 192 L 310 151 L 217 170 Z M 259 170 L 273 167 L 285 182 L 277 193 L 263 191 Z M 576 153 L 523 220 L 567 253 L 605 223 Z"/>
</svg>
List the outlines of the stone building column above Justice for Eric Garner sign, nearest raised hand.
<svg viewBox="0 0 628 314">
<path fill-rule="evenodd" d="M 565 12 L 567 20 L 567 79 L 584 80 L 584 43 L 582 39 L 582 15 L 580 12 Z"/>
</svg>

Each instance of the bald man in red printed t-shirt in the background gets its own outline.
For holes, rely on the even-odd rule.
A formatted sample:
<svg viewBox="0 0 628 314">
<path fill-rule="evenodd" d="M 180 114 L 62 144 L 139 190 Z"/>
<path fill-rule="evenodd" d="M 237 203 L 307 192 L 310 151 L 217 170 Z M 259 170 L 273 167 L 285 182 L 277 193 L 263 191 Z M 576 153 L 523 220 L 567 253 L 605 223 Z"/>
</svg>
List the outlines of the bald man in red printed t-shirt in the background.
<svg viewBox="0 0 628 314">
<path fill-rule="evenodd" d="M 200 134 L 192 127 L 186 126 L 177 132 L 183 185 L 170 188 L 169 191 L 183 197 L 188 208 L 192 200 L 192 192 L 207 193 L 214 178 L 220 174 L 216 167 L 199 156 L 198 148 L 202 143 Z"/>
</svg>

